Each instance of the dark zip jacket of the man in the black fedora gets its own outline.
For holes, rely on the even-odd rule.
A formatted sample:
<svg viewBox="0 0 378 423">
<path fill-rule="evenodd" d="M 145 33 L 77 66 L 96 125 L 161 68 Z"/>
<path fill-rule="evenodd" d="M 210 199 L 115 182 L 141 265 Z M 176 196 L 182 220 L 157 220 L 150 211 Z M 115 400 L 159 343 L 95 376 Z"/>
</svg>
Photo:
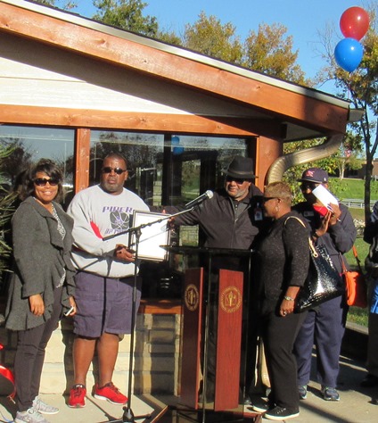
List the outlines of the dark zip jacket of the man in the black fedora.
<svg viewBox="0 0 378 423">
<path fill-rule="evenodd" d="M 251 185 L 247 195 L 234 209 L 233 200 L 224 188 L 214 192 L 209 200 L 195 207 L 193 211 L 177 216 L 177 225 L 200 225 L 205 234 L 205 247 L 251 249 L 255 236 L 259 233 L 262 220 L 262 193 Z"/>
</svg>

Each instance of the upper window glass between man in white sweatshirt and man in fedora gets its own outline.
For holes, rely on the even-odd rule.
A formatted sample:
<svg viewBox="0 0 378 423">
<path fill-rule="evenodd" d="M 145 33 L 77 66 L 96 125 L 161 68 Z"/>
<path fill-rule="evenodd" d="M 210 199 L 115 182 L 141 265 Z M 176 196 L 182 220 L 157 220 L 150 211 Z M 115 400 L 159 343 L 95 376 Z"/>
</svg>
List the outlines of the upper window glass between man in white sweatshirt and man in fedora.
<svg viewBox="0 0 378 423">
<path fill-rule="evenodd" d="M 246 153 L 240 138 L 170 136 L 92 131 L 90 185 L 100 180 L 103 157 L 127 159 L 127 188 L 149 205 L 187 203 L 207 189 L 223 185 L 221 170 L 235 154 Z"/>
</svg>

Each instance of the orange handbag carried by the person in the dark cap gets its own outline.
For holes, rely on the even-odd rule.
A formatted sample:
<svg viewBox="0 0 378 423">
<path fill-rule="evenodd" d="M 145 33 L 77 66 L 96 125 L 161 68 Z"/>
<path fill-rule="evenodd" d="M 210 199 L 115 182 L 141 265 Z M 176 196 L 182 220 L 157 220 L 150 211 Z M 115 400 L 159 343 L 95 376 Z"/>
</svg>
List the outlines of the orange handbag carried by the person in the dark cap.
<svg viewBox="0 0 378 423">
<path fill-rule="evenodd" d="M 341 256 L 342 275 L 345 281 L 345 289 L 348 305 L 355 307 L 367 307 L 367 287 L 364 272 L 361 268 L 361 262 L 358 258 L 357 248 L 353 245 L 353 255 L 357 261 L 358 271 L 347 270 L 344 259 Z"/>
</svg>

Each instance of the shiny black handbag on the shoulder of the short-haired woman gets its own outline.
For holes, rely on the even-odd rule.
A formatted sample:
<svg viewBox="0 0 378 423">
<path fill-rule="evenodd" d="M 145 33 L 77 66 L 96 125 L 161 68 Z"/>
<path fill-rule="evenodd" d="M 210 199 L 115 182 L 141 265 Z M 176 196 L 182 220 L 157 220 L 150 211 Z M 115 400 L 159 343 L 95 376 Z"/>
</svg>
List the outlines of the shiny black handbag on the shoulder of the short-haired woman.
<svg viewBox="0 0 378 423">
<path fill-rule="evenodd" d="M 299 220 L 305 227 L 302 220 L 294 219 Z M 344 282 L 334 267 L 325 245 L 315 245 L 310 237 L 308 245 L 310 256 L 308 277 L 295 300 L 294 311 L 297 313 L 313 309 L 345 293 Z"/>
</svg>

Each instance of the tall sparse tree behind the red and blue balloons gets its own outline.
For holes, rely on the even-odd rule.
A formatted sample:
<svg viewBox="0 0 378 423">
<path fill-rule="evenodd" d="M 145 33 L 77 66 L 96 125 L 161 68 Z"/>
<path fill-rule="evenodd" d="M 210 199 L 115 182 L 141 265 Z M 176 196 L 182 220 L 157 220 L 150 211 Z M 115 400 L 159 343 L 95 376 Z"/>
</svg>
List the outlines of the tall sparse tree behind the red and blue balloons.
<svg viewBox="0 0 378 423">
<path fill-rule="evenodd" d="M 334 30 L 326 29 L 320 34 L 325 53 L 323 58 L 327 63 L 317 75 L 318 83 L 333 80 L 341 98 L 350 100 L 356 109 L 363 112 L 362 119 L 351 124 L 355 137 L 362 140 L 366 154 L 365 175 L 365 214 L 366 220 L 370 216 L 371 179 L 374 154 L 378 146 L 378 34 L 377 14 L 378 2 L 370 3 L 366 11 L 370 15 L 370 26 L 366 36 L 360 41 L 364 47 L 362 62 L 356 71 L 342 70 L 334 59 Z M 374 134 L 375 132 L 375 134 Z"/>
</svg>

